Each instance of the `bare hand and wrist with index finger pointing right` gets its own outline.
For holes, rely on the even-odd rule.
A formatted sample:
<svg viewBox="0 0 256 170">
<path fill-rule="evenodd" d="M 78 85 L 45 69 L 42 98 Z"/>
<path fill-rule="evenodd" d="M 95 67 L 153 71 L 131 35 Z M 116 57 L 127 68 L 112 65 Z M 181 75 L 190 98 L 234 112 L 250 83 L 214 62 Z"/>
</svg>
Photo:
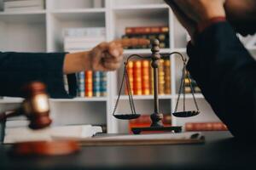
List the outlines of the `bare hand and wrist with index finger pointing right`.
<svg viewBox="0 0 256 170">
<path fill-rule="evenodd" d="M 114 71 L 123 60 L 124 47 L 148 45 L 143 38 L 128 38 L 113 42 L 102 42 L 90 51 L 67 54 L 64 59 L 63 72 L 71 74 L 79 71 Z"/>
</svg>

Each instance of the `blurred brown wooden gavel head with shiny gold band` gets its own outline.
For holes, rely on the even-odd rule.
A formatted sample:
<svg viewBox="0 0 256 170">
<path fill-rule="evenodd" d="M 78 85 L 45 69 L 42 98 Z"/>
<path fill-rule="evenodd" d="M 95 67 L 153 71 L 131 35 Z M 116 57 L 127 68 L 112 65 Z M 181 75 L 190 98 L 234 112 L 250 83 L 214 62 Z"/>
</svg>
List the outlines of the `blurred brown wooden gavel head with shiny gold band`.
<svg viewBox="0 0 256 170">
<path fill-rule="evenodd" d="M 31 82 L 23 89 L 26 99 L 22 104 L 22 111 L 30 120 L 29 127 L 40 129 L 49 127 L 49 96 L 43 82 Z"/>
</svg>

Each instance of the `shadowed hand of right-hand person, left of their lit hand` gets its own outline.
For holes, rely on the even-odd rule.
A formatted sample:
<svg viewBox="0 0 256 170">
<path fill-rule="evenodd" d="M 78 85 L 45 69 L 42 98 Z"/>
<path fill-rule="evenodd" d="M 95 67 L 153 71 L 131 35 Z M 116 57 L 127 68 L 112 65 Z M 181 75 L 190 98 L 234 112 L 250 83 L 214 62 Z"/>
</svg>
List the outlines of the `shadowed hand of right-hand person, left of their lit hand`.
<svg viewBox="0 0 256 170">
<path fill-rule="evenodd" d="M 189 19 L 189 17 L 184 14 L 181 9 L 172 0 L 165 0 L 165 2 L 172 8 L 173 13 L 176 15 L 177 20 L 181 25 L 188 31 L 192 42 L 194 41 L 196 23 L 194 20 Z"/>
</svg>

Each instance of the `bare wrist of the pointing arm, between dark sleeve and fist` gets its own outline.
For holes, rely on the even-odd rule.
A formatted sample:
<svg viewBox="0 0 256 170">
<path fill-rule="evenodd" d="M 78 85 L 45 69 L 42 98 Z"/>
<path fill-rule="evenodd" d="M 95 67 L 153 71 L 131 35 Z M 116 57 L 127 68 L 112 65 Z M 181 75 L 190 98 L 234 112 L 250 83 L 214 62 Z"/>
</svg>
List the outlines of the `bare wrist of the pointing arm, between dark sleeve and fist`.
<svg viewBox="0 0 256 170">
<path fill-rule="evenodd" d="M 89 52 L 66 54 L 63 65 L 64 74 L 91 70 L 91 59 Z"/>
</svg>

